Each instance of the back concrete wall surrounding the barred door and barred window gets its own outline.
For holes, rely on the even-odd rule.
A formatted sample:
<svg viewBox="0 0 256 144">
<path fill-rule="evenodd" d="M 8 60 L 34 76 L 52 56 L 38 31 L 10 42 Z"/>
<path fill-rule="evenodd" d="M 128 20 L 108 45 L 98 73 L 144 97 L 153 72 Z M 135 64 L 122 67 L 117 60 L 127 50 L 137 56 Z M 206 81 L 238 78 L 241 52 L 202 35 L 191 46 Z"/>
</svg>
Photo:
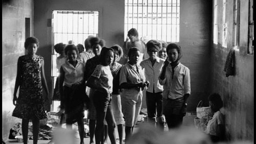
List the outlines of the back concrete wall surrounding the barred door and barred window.
<svg viewBox="0 0 256 144">
<path fill-rule="evenodd" d="M 209 33 L 210 33 L 210 1 L 181 0 L 180 42 L 183 49 L 181 62 L 191 71 L 191 97 L 188 100 L 188 111 L 195 111 L 199 100 L 208 96 L 209 71 Z M 98 10 L 99 37 L 106 41 L 106 46 L 123 45 L 124 33 L 124 1 L 34 1 L 34 33 L 40 41 L 38 54 L 45 57 L 48 65 L 46 79 L 51 81 L 51 28 L 47 27 L 47 19 L 53 10 Z M 145 105 L 143 98 L 142 107 Z"/>
</svg>

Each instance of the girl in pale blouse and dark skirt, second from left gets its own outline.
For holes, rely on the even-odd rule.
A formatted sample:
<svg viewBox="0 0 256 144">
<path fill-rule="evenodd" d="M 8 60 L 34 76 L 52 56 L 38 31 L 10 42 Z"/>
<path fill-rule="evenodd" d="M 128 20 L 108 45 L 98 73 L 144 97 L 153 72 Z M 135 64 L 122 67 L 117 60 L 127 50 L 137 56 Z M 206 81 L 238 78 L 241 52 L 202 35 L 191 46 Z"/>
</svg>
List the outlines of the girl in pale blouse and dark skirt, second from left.
<svg viewBox="0 0 256 144">
<path fill-rule="evenodd" d="M 77 122 L 80 144 L 82 144 L 84 110 L 89 98 L 85 89 L 84 65 L 76 60 L 78 53 L 74 44 L 66 46 L 65 54 L 68 60 L 60 67 L 59 92 L 61 95 L 60 109 L 66 114 L 67 128 L 72 129 L 72 124 Z"/>
</svg>

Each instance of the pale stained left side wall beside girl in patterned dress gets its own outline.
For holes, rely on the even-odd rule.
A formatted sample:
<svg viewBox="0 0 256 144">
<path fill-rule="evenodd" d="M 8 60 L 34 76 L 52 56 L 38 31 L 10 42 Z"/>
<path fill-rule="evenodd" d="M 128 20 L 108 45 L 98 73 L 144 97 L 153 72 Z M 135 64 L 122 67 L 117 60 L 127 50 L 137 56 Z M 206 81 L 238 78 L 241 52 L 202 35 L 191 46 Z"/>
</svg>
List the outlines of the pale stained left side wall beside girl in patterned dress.
<svg viewBox="0 0 256 144">
<path fill-rule="evenodd" d="M 25 17 L 30 17 L 33 29 L 33 1 L 2 2 L 2 137 L 6 140 L 14 124 L 21 122 L 21 119 L 11 116 L 14 109 L 12 98 L 17 59 L 25 54 Z"/>
</svg>

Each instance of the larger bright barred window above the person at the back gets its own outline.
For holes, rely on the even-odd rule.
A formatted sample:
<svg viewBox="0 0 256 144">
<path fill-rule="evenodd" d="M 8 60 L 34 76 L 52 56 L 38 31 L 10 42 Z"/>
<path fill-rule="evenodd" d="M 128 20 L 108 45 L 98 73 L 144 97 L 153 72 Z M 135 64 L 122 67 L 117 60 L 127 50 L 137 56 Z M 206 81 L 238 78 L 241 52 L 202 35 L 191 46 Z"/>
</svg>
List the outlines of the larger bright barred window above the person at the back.
<svg viewBox="0 0 256 144">
<path fill-rule="evenodd" d="M 179 42 L 180 0 L 125 0 L 124 38 L 131 28 L 141 37 Z"/>
</svg>

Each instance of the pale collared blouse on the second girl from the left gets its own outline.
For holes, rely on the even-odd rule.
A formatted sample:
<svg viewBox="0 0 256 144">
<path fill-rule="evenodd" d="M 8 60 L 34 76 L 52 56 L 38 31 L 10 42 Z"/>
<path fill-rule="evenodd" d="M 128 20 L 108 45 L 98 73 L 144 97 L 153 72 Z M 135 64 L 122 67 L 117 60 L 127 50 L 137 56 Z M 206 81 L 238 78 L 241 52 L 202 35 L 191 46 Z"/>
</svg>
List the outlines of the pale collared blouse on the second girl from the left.
<svg viewBox="0 0 256 144">
<path fill-rule="evenodd" d="M 73 84 L 81 84 L 84 77 L 84 66 L 81 61 L 78 61 L 76 67 L 66 61 L 61 65 L 64 73 L 64 85 L 71 87 Z"/>
</svg>

